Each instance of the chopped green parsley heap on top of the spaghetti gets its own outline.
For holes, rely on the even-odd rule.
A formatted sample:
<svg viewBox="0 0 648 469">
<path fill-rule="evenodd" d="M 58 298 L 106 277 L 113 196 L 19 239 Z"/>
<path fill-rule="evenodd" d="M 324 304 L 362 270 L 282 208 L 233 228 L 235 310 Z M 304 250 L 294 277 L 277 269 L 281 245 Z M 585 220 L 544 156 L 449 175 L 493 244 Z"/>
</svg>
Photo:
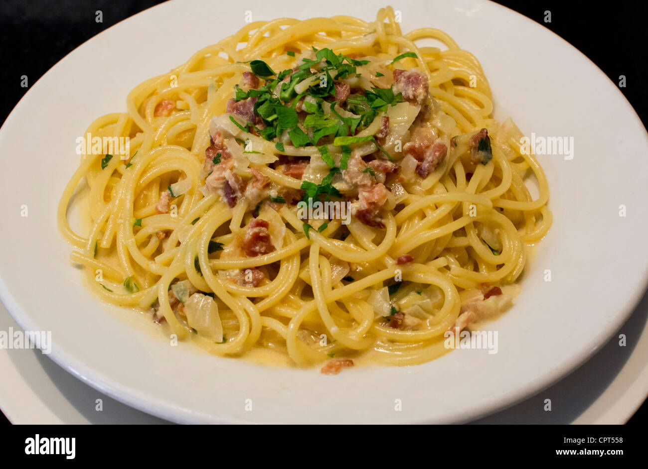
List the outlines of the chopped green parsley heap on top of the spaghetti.
<svg viewBox="0 0 648 469">
<path fill-rule="evenodd" d="M 313 48 L 313 52 L 315 59 L 303 58 L 301 65 L 295 70 L 286 69 L 281 72 L 273 71 L 264 61 L 249 61 L 251 71 L 263 78 L 266 83 L 258 89 L 248 90 L 235 85 L 234 99 L 238 102 L 256 98 L 253 111 L 262 121 L 262 125 L 259 124 L 262 128 L 251 122 L 241 124 L 233 116 L 229 116 L 229 119 L 240 130 L 246 133 L 256 131 L 257 135 L 268 141 L 287 134 L 290 144 L 295 148 L 316 146 L 329 168 L 335 166 L 335 160 L 330 155 L 330 147 L 327 147 L 330 142 L 333 142 L 334 146 L 341 147 L 342 158 L 339 169 L 347 167 L 351 155 L 350 145 L 360 142 L 373 142 L 376 148 L 391 160 L 391 156 L 378 146 L 373 136 L 355 135 L 358 130 L 371 125 L 380 113 L 388 110 L 389 106 L 401 102 L 402 94 L 394 93 L 393 87 L 386 89 L 372 87 L 364 94 L 348 96 L 346 104 L 336 110 L 338 105 L 335 98 L 336 80 L 358 76 L 356 67 L 365 65 L 369 61 L 355 60 L 343 54 L 336 54 L 327 48 Z M 291 50 L 286 51 L 286 54 L 295 56 L 295 52 Z M 407 52 L 397 57 L 395 61 L 412 56 L 416 55 Z M 376 73 L 376 76 L 384 76 L 384 74 Z M 303 122 L 300 121 L 296 110 L 298 103 L 301 105 L 301 111 L 308 113 L 303 118 Z M 326 107 L 323 104 L 326 104 Z M 351 114 L 344 112 L 344 116 L 340 115 L 343 108 Z M 327 109 L 327 113 L 324 109 Z M 325 137 L 327 137 L 325 142 L 320 145 L 320 140 Z M 284 153 L 285 143 L 275 142 L 275 148 Z M 217 164 L 216 158 L 214 164 Z M 337 191 L 319 190 L 316 195 L 321 193 L 336 195 Z"/>
</svg>

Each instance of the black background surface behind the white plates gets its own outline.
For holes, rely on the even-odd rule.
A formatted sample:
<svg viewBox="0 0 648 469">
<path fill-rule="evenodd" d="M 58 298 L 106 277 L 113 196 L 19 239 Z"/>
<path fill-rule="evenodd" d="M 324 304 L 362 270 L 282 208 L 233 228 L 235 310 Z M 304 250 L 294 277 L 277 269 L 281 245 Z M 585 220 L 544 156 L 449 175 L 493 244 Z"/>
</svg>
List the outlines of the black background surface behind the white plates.
<svg viewBox="0 0 648 469">
<path fill-rule="evenodd" d="M 27 75 L 32 86 L 52 65 L 95 34 L 145 8 L 157 5 L 152 0 L 0 0 L 0 122 L 4 122 L 17 102 L 29 90 L 21 87 Z M 214 6 L 218 5 L 214 1 Z M 382 3 L 371 2 L 382 6 Z M 389 3 L 385 0 L 385 3 Z M 549 28 L 594 61 L 618 84 L 626 77 L 621 91 L 642 119 L 647 122 L 647 93 L 643 85 L 646 72 L 645 47 L 648 43 L 646 20 L 648 2 L 607 3 L 566 1 L 499 1 Z M 376 7 L 372 6 L 372 10 Z M 367 6 L 369 8 L 369 6 Z M 101 10 L 103 22 L 95 21 Z M 214 11 L 216 8 L 214 8 Z M 551 23 L 544 23 L 546 10 Z M 213 14 L 213 13 L 212 13 Z M 214 26 L 217 25 L 214 17 Z M 181 31 L 179 32 L 181 37 Z M 596 96 L 592 96 L 596 99 Z M 601 110 L 602 112 L 604 110 Z M 35 131 L 38 129 L 34 129 Z M 1 379 L 1 378 L 0 378 Z M 7 386 L 2 383 L 0 386 Z M 629 423 L 647 421 L 648 405 Z M 6 419 L 4 419 L 7 422 Z"/>
</svg>

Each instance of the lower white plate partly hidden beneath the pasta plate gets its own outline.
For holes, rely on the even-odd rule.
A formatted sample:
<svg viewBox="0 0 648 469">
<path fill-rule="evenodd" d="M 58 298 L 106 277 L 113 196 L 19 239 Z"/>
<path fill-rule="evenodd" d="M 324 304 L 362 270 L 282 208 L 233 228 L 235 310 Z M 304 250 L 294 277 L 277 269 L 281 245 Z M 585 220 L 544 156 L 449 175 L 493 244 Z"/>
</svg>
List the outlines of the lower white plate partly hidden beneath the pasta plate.
<svg viewBox="0 0 648 469">
<path fill-rule="evenodd" d="M 548 389 L 493 413 L 477 424 L 625 424 L 648 394 L 648 294 L 619 333 L 586 364 Z M 0 303 L 0 331 L 19 326 Z M 163 424 L 99 393 L 40 351 L 0 349 L 0 409 L 14 424 Z M 587 383 L 586 389 L 583 383 Z M 544 399 L 552 398 L 551 412 Z M 97 409 L 97 399 L 102 408 Z"/>
</svg>

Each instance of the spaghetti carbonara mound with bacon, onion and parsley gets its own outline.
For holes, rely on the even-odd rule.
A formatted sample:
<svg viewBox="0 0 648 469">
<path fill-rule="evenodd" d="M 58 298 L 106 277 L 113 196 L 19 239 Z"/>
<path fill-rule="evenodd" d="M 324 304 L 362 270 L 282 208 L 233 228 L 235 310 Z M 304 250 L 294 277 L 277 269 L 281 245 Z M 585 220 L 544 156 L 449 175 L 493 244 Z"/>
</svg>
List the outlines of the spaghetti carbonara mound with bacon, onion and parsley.
<svg viewBox="0 0 648 469">
<path fill-rule="evenodd" d="M 82 149 L 58 221 L 101 298 L 211 353 L 426 362 L 511 305 L 551 225 L 542 168 L 492 108 L 476 58 L 392 8 L 251 23 L 90 125 L 128 147 Z"/>
</svg>

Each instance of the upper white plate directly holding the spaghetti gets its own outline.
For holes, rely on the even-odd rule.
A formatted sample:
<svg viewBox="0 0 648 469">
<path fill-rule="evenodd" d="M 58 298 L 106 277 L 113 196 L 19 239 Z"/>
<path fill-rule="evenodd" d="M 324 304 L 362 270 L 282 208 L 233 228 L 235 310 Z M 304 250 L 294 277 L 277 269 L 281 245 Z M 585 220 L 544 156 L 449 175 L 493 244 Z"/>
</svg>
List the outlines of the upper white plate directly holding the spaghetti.
<svg viewBox="0 0 648 469">
<path fill-rule="evenodd" d="M 375 9 L 379 5 L 375 6 Z M 491 328 L 497 354 L 454 351 L 415 367 L 337 376 L 169 347 L 145 316 L 98 305 L 68 261 L 56 204 L 76 168 L 75 139 L 124 109 L 134 85 L 254 19 L 351 14 L 366 3 L 211 1 L 156 6 L 91 39 L 25 95 L 0 131 L 5 168 L 0 296 L 27 330 L 52 331 L 51 357 L 98 390 L 178 422 L 459 422 L 549 386 L 605 343 L 632 311 L 648 272 L 648 136 L 632 107 L 577 50 L 511 10 L 468 0 L 410 1 L 402 28 L 446 30 L 481 61 L 496 117 L 526 135 L 572 136 L 573 160 L 540 156 L 554 224 L 517 305 Z M 184 25 L 184 26 L 183 26 Z M 172 34 L 181 28 L 181 34 Z M 619 205 L 627 216 L 619 217 Z M 29 216 L 21 217 L 27 205 Z M 544 281 L 551 270 L 552 281 Z M 133 327 L 135 325 L 135 327 Z M 400 400 L 401 410 L 396 410 Z M 251 411 L 249 404 L 251 405 Z"/>
</svg>

